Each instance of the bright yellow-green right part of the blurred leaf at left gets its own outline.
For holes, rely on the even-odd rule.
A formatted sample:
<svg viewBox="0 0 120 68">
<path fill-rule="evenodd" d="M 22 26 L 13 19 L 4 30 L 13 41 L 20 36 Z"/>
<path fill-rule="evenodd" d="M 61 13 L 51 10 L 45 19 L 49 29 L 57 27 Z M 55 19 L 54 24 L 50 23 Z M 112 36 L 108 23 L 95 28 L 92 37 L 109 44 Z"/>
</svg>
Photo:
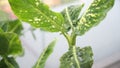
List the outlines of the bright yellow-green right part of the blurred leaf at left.
<svg viewBox="0 0 120 68">
<path fill-rule="evenodd" d="M 7 54 L 11 56 L 23 55 L 23 48 L 18 35 L 15 33 L 5 33 L 5 36 L 9 41 L 9 49 Z"/>
</svg>

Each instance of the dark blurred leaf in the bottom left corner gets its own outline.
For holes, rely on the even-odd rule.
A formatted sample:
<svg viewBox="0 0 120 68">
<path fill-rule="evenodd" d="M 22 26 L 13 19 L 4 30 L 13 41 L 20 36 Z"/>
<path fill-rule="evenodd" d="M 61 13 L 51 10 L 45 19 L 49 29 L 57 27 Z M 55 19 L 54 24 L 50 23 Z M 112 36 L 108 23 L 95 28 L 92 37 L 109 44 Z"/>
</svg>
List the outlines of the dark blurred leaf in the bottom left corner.
<svg viewBox="0 0 120 68">
<path fill-rule="evenodd" d="M 7 57 L 0 61 L 0 68 L 19 68 L 13 57 Z"/>
</svg>

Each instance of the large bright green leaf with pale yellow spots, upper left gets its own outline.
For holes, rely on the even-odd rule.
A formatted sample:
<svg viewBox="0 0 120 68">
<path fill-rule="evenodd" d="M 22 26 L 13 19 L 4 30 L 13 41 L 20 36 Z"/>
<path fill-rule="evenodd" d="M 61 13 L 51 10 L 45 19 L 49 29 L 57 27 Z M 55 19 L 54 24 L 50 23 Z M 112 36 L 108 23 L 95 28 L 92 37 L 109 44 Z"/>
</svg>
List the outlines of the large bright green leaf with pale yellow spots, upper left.
<svg viewBox="0 0 120 68">
<path fill-rule="evenodd" d="M 22 21 L 50 32 L 62 30 L 64 19 L 40 0 L 9 0 L 12 10 Z"/>
</svg>

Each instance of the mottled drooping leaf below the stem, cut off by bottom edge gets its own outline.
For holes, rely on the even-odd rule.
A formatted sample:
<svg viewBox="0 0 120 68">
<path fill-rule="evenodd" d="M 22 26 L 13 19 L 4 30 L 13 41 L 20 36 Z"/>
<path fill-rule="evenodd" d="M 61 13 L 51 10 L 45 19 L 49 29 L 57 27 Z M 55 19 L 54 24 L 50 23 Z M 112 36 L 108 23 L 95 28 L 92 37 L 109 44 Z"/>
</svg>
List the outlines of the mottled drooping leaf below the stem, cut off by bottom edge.
<svg viewBox="0 0 120 68">
<path fill-rule="evenodd" d="M 93 52 L 91 47 L 80 49 L 71 47 L 60 59 L 60 68 L 91 68 L 93 64 Z"/>
</svg>

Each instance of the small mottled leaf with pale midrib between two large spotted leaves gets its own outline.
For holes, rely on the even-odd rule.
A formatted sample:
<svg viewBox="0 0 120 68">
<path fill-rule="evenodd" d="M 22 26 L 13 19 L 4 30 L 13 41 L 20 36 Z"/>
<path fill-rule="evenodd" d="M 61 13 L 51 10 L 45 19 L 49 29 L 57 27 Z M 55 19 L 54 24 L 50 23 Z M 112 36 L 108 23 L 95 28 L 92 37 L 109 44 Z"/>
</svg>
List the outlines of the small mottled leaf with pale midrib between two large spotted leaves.
<svg viewBox="0 0 120 68">
<path fill-rule="evenodd" d="M 80 15 L 80 11 L 83 8 L 84 4 L 82 5 L 72 5 L 65 8 L 61 13 L 65 19 L 65 28 L 69 30 L 71 28 L 71 24 L 76 26 L 78 17 Z"/>
</svg>

